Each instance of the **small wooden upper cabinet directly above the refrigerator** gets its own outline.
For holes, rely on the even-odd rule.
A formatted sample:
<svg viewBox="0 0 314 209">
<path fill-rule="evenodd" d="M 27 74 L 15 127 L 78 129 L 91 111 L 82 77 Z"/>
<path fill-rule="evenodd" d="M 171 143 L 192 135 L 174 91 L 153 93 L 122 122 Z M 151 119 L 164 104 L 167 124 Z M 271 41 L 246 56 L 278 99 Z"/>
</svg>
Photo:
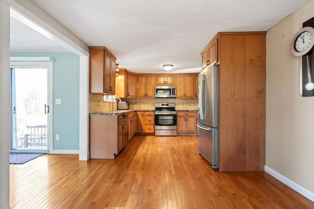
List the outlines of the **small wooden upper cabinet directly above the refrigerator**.
<svg viewBox="0 0 314 209">
<path fill-rule="evenodd" d="M 213 40 L 209 45 L 201 52 L 202 55 L 202 69 L 211 64 L 218 62 L 218 39 Z"/>
</svg>

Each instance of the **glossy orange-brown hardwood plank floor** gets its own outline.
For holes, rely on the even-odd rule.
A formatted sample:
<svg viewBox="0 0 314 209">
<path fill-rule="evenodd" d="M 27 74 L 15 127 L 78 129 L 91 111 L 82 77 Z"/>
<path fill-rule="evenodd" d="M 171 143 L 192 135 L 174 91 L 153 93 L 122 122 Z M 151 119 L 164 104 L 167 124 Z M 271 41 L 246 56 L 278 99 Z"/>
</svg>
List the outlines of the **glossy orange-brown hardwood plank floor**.
<svg viewBox="0 0 314 209">
<path fill-rule="evenodd" d="M 314 208 L 265 172 L 219 172 L 196 137 L 135 136 L 115 160 L 43 155 L 10 165 L 11 209 Z"/>
</svg>

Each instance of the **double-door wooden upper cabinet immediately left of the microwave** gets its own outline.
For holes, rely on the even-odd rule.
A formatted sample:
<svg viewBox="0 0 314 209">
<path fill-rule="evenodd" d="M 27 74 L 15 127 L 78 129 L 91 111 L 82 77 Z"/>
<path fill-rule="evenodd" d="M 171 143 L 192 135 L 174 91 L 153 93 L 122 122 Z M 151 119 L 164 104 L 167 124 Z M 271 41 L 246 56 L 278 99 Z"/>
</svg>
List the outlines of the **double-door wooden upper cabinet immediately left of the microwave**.
<svg viewBox="0 0 314 209">
<path fill-rule="evenodd" d="M 155 97 L 154 74 L 137 74 L 137 97 L 138 98 Z"/>
</svg>

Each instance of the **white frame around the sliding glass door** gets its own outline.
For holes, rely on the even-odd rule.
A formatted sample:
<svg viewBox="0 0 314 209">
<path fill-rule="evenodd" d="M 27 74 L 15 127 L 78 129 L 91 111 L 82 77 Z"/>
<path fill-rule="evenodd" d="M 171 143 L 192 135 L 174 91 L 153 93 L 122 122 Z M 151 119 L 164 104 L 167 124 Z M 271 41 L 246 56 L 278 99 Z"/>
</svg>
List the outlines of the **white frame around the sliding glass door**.
<svg viewBox="0 0 314 209">
<path fill-rule="evenodd" d="M 47 151 L 46 150 L 28 150 L 27 152 L 47 152 L 52 153 L 53 150 L 53 95 L 52 95 L 52 57 L 10 57 L 10 68 L 47 68 L 47 105 L 49 105 L 49 116 L 47 120 Z M 12 111 L 11 111 L 12 112 Z M 11 123 L 12 123 L 11 118 Z M 12 133 L 12 132 L 11 132 Z M 11 141 L 10 141 L 11 143 Z M 11 150 L 12 152 L 23 152 L 23 150 Z M 25 152 L 25 150 L 24 150 Z"/>
</svg>

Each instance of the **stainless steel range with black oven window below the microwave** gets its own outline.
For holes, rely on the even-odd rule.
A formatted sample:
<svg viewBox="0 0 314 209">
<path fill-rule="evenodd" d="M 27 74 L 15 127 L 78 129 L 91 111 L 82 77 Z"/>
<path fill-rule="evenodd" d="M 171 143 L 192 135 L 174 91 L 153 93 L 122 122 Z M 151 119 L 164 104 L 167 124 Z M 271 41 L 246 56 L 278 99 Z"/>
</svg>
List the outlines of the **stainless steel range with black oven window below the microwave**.
<svg viewBox="0 0 314 209">
<path fill-rule="evenodd" d="M 177 136 L 176 103 L 155 103 L 155 136 Z"/>
</svg>

